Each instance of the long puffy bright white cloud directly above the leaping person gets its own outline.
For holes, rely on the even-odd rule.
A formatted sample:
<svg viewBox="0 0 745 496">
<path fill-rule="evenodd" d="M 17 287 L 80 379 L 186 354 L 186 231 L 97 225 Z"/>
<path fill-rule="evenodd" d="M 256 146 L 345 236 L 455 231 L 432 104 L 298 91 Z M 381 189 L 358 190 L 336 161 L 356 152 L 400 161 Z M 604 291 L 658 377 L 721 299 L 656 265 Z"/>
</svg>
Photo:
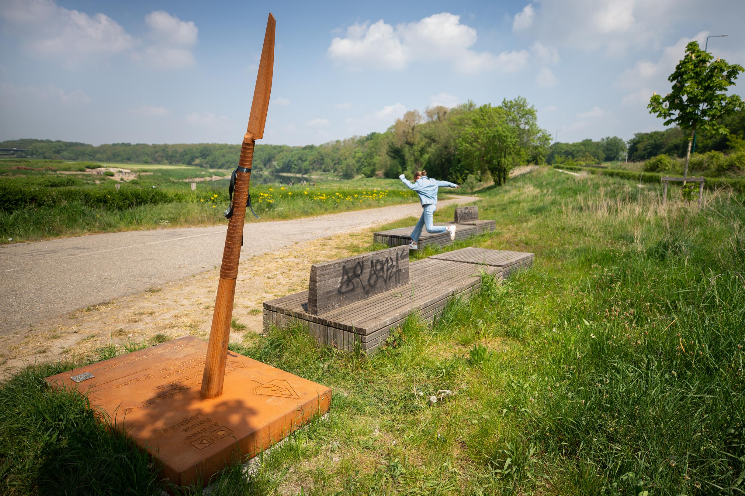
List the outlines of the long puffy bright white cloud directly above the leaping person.
<svg viewBox="0 0 745 496">
<path fill-rule="evenodd" d="M 382 19 L 372 25 L 351 25 L 346 38 L 332 39 L 328 54 L 352 69 L 400 71 L 413 62 L 449 62 L 466 74 L 484 69 L 519 71 L 530 57 L 524 50 L 498 55 L 474 51 L 470 47 L 476 38 L 476 30 L 461 24 L 460 16 L 443 12 L 396 28 Z"/>
</svg>

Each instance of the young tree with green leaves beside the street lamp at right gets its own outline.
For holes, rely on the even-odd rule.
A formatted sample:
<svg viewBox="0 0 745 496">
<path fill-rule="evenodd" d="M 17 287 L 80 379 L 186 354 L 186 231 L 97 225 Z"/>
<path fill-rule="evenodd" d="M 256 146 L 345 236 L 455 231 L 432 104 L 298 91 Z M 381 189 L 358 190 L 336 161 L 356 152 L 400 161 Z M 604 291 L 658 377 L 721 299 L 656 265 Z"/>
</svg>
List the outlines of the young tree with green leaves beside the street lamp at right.
<svg viewBox="0 0 745 496">
<path fill-rule="evenodd" d="M 665 126 L 676 124 L 690 132 L 688 149 L 685 152 L 685 170 L 688 177 L 688 162 L 691 160 L 691 143 L 697 130 L 726 134 L 727 129 L 717 119 L 742 109 L 743 100 L 736 94 L 726 94 L 727 88 L 735 84 L 744 69 L 742 65 L 728 64 L 701 50 L 698 42 L 685 47 L 685 56 L 668 77 L 673 83 L 670 93 L 662 97 L 653 94 L 650 98 L 650 114 L 665 119 Z"/>
</svg>

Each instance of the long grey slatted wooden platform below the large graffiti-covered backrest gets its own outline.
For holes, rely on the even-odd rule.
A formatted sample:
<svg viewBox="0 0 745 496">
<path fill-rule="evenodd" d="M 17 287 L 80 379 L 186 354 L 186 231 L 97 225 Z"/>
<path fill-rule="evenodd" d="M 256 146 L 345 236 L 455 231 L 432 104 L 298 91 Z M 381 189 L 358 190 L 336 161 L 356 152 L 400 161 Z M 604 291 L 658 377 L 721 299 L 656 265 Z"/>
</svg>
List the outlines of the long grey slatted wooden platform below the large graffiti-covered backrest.
<svg viewBox="0 0 745 496">
<path fill-rule="evenodd" d="M 448 257 L 453 260 L 446 260 Z M 457 260 L 455 260 L 457 259 Z M 533 254 L 463 248 L 412 263 L 409 283 L 374 294 L 322 316 L 308 313 L 308 292 L 264 302 L 264 329 L 299 321 L 322 344 L 352 351 L 374 352 L 405 319 L 419 313 L 431 321 L 451 296 L 467 297 L 481 286 L 481 271 L 509 277 L 516 268 L 532 265 Z"/>
</svg>

